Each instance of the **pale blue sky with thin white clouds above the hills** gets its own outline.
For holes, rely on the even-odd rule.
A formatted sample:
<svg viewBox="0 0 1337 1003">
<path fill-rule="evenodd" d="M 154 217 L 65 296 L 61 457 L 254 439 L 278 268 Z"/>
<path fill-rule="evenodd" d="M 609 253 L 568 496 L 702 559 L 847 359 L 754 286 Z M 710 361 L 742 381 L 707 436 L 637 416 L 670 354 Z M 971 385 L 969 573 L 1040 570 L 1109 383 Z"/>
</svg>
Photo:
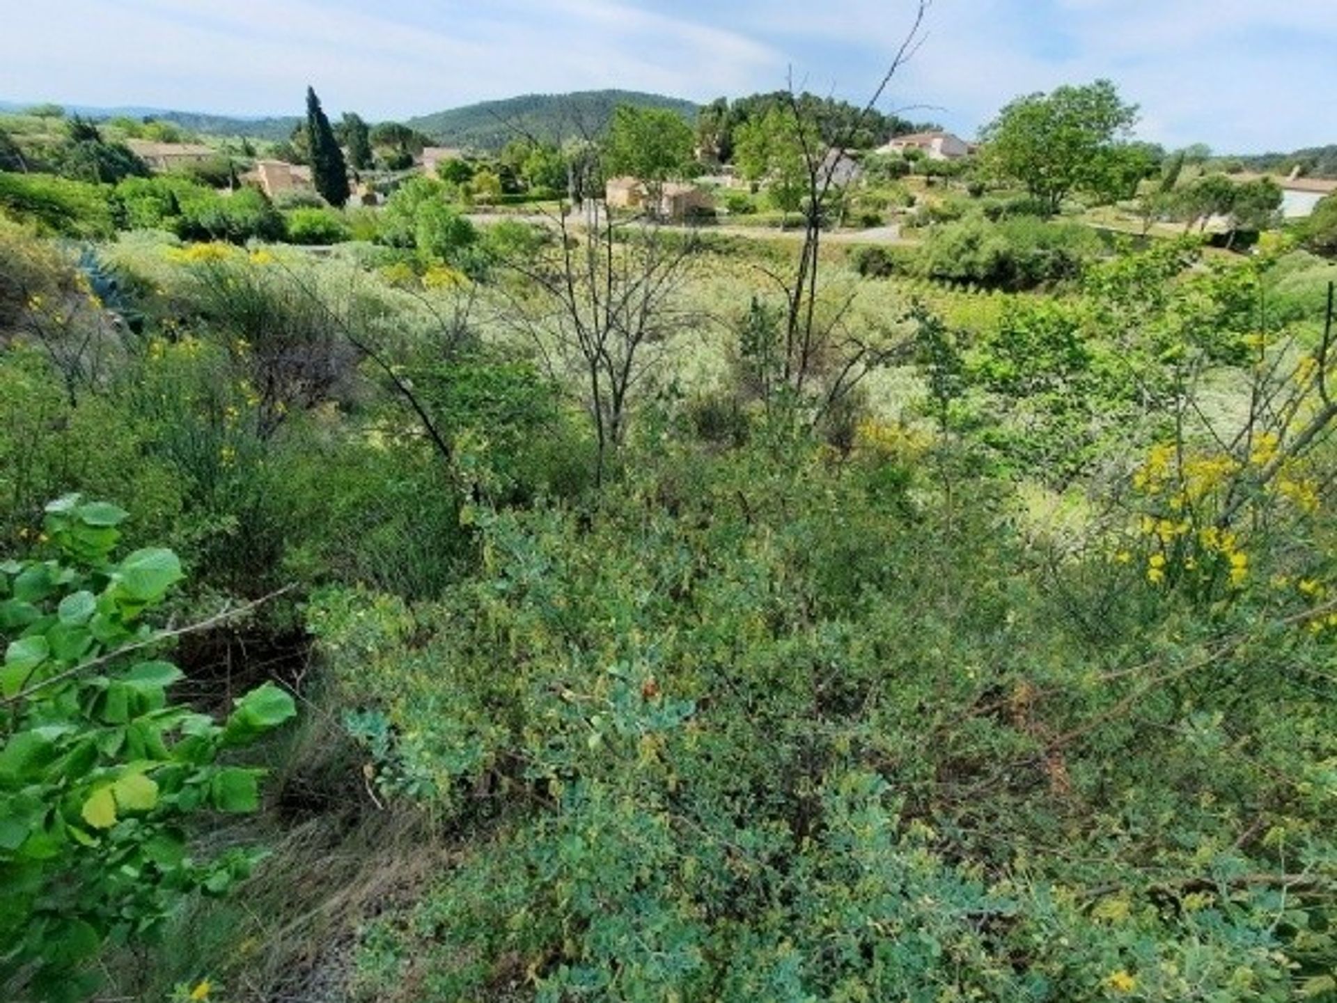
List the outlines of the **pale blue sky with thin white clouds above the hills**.
<svg viewBox="0 0 1337 1003">
<path fill-rule="evenodd" d="M 861 99 L 913 0 L 7 0 L 0 99 L 414 114 L 622 87 Z M 1099 76 L 1139 135 L 1222 151 L 1337 143 L 1337 0 L 933 0 L 884 110 L 971 136 L 1011 98 Z"/>
</svg>

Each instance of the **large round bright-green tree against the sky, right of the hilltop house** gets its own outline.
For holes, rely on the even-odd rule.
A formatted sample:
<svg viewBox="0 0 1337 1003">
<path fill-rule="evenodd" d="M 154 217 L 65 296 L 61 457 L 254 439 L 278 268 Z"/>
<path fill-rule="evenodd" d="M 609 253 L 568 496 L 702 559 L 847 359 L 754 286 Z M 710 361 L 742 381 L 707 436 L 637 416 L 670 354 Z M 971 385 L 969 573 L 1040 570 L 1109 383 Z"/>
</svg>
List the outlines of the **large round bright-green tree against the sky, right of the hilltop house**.
<svg viewBox="0 0 1337 1003">
<path fill-rule="evenodd" d="M 1050 213 L 1075 190 L 1118 197 L 1127 186 L 1123 139 L 1136 118 L 1108 80 L 1017 98 L 985 126 L 985 160 Z"/>
</svg>

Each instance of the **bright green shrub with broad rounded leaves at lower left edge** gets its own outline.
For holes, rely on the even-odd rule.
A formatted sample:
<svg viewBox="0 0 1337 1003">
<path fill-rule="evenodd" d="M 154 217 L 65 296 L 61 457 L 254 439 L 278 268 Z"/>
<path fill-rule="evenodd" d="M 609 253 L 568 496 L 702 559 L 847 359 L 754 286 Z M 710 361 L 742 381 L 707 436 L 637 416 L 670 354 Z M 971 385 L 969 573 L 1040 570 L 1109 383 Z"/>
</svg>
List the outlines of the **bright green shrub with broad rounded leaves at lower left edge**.
<svg viewBox="0 0 1337 1003">
<path fill-rule="evenodd" d="M 0 986 L 80 1000 L 108 940 L 143 939 L 187 895 L 225 892 L 257 856 L 201 859 L 182 828 L 254 812 L 262 770 L 226 766 L 295 713 L 273 685 L 219 725 L 167 702 L 183 673 L 144 622 L 180 578 L 168 550 L 111 552 L 126 512 L 70 495 L 47 506 L 41 558 L 0 564 Z"/>
</svg>

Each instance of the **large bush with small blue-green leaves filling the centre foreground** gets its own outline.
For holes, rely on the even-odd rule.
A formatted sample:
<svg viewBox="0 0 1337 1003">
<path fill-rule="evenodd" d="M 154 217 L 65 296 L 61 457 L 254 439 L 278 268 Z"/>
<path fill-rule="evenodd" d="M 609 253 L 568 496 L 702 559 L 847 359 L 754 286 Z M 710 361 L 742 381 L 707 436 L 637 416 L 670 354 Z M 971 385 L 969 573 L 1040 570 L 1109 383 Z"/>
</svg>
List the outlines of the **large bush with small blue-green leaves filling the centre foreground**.
<svg viewBox="0 0 1337 1003">
<path fill-rule="evenodd" d="M 678 451 L 586 526 L 476 510 L 484 571 L 440 603 L 313 606 L 380 796 L 504 812 L 365 928 L 365 995 L 528 971 L 536 999 L 1280 1002 L 1292 964 L 1332 963 L 1300 932 L 1325 929 L 1322 881 L 1294 879 L 1317 895 L 1278 927 L 1249 877 L 1330 873 L 1322 798 L 1257 800 L 1326 754 L 1296 666 L 1330 642 L 1222 649 L 1243 610 L 1175 638 L 1183 608 L 1099 548 L 1047 590 L 985 497 L 932 515 L 904 473 L 923 445 L 860 443 L 838 480 Z M 1241 691 L 1277 687 L 1284 711 Z M 1219 760 L 1227 736 L 1247 758 Z M 1301 816 L 1305 849 L 1262 837 Z"/>
</svg>

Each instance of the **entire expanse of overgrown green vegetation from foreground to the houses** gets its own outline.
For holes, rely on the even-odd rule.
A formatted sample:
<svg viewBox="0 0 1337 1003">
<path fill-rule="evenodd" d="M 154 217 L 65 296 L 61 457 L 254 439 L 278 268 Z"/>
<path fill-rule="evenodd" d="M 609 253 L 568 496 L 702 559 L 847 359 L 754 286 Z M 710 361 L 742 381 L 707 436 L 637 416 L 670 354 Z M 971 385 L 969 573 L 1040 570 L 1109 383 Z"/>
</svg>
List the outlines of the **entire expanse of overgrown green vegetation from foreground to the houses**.
<svg viewBox="0 0 1337 1003">
<path fill-rule="evenodd" d="M 0 174 L 0 995 L 1337 995 L 1330 199 L 1003 119 L 1086 99 L 1028 193 L 745 104 L 797 239 L 666 218 L 673 111 Z"/>
</svg>

